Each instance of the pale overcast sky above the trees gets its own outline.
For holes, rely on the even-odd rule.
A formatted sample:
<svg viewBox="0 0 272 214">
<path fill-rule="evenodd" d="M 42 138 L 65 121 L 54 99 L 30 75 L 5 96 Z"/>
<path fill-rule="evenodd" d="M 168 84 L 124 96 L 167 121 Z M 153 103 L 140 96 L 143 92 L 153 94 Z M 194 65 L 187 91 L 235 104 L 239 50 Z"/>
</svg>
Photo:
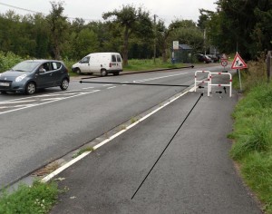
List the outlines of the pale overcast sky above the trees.
<svg viewBox="0 0 272 214">
<path fill-rule="evenodd" d="M 30 14 L 30 12 L 7 6 L 12 5 L 48 15 L 52 9 L 50 2 L 49 0 L 0 0 L 0 13 L 14 10 L 16 14 Z M 119 10 L 122 5 L 141 6 L 146 11 L 150 11 L 151 15 L 158 15 L 157 19 L 161 19 L 167 25 L 177 18 L 198 22 L 199 8 L 216 10 L 214 4 L 216 0 L 63 0 L 63 2 L 63 15 L 79 17 L 87 21 L 102 20 L 103 13 L 114 9 Z"/>
</svg>

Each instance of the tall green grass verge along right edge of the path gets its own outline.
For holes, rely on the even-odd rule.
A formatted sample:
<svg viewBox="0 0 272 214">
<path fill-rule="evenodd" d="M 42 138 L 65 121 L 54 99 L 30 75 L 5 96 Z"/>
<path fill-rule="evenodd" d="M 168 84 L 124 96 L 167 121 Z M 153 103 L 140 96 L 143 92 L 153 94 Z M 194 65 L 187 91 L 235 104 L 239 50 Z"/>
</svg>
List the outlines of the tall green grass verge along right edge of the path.
<svg viewBox="0 0 272 214">
<path fill-rule="evenodd" d="M 242 74 L 245 97 L 232 114 L 230 156 L 238 162 L 243 179 L 266 213 L 272 214 L 272 83 L 267 83 L 262 61 L 248 63 L 248 68 Z"/>
</svg>

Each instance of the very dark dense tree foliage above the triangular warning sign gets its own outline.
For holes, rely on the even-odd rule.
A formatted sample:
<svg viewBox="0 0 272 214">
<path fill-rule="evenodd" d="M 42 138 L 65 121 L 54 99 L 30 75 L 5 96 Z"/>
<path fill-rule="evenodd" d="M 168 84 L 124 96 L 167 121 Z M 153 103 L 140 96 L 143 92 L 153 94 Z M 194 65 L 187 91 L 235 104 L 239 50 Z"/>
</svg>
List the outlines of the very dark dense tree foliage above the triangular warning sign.
<svg viewBox="0 0 272 214">
<path fill-rule="evenodd" d="M 199 26 L 208 30 L 211 43 L 221 52 L 238 49 L 249 60 L 272 48 L 272 1 L 219 0 L 216 4 L 215 13 L 200 11 Z"/>
</svg>

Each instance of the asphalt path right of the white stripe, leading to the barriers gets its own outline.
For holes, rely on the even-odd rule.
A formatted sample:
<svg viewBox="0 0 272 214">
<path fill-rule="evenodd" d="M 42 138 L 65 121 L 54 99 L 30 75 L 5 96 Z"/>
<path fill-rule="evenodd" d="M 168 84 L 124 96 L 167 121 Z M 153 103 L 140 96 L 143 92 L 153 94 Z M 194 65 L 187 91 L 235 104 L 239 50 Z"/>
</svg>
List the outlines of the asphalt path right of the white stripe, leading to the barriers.
<svg viewBox="0 0 272 214">
<path fill-rule="evenodd" d="M 64 170 L 51 213 L 262 213 L 228 156 L 237 97 L 217 90 L 188 92 Z"/>
</svg>

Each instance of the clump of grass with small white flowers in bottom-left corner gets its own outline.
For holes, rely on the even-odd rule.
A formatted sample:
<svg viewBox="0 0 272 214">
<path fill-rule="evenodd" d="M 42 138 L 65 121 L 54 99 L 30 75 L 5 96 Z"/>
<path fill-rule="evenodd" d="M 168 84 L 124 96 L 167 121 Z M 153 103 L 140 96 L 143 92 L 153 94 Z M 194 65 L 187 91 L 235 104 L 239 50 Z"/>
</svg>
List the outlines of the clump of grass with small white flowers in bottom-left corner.
<svg viewBox="0 0 272 214">
<path fill-rule="evenodd" d="M 18 190 L 0 197 L 0 213 L 36 214 L 48 213 L 53 208 L 59 190 L 55 182 L 34 181 L 33 186 L 20 185 Z"/>
</svg>

